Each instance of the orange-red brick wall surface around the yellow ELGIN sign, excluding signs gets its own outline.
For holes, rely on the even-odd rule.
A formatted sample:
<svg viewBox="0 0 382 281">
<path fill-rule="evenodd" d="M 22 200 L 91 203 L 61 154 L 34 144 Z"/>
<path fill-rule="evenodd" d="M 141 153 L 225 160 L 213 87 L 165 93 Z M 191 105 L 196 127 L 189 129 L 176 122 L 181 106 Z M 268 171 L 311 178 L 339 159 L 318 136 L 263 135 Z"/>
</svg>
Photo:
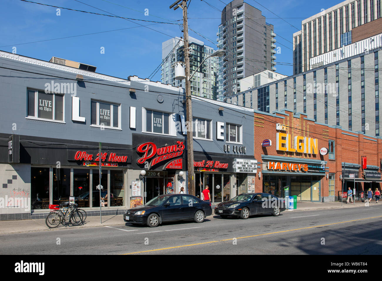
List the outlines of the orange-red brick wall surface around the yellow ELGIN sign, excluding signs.
<svg viewBox="0 0 382 281">
<path fill-rule="evenodd" d="M 328 141 L 335 142 L 335 159 L 329 160 L 327 155 L 317 155 L 298 152 L 283 152 L 276 150 L 276 124 L 284 124 L 287 127 L 286 133 L 294 136 L 311 137 L 317 139 L 318 149 L 328 148 Z M 262 141 L 270 139 L 270 147 L 262 147 Z M 361 132 L 350 132 L 342 130 L 340 126 L 329 127 L 324 124 L 315 123 L 306 118 L 306 115 L 293 115 L 293 111 L 282 110 L 275 115 L 267 115 L 255 111 L 254 113 L 254 157 L 262 162 L 261 155 L 274 155 L 280 157 L 293 157 L 327 161 L 326 174 L 335 174 L 335 195 L 342 190 L 342 162 L 355 163 L 361 165 L 361 157 L 367 157 L 367 165 L 380 166 L 382 148 L 382 138 L 364 136 Z M 329 168 L 329 169 L 328 169 Z M 262 172 L 262 165 L 257 168 Z M 359 169 L 360 177 L 362 169 Z M 280 172 L 281 174 L 281 172 Z M 256 180 L 255 192 L 262 192 L 262 177 Z M 362 184 L 363 187 L 363 184 Z M 321 197 L 329 196 L 329 180 L 325 177 L 321 179 Z"/>
</svg>

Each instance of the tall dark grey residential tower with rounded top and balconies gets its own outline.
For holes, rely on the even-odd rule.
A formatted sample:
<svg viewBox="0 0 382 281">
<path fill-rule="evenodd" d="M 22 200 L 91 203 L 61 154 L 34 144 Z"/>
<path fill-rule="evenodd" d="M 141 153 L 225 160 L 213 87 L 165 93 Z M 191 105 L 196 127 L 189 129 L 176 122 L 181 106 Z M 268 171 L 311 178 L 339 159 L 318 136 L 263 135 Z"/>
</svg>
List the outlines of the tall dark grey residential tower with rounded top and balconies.
<svg viewBox="0 0 382 281">
<path fill-rule="evenodd" d="M 225 6 L 217 32 L 218 48 L 227 52 L 218 60 L 218 99 L 226 102 L 240 92 L 241 78 L 266 69 L 276 70 L 273 30 L 260 10 L 243 0 L 234 0 Z"/>
</svg>

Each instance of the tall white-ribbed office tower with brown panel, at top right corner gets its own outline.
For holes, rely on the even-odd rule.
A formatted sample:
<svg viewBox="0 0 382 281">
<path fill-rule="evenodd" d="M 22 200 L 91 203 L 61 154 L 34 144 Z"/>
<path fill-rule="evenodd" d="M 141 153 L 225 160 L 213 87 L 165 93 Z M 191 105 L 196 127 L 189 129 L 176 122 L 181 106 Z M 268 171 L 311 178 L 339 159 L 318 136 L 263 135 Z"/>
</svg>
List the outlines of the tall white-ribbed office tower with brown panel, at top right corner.
<svg viewBox="0 0 382 281">
<path fill-rule="evenodd" d="M 381 15 L 381 0 L 346 0 L 304 19 L 293 34 L 293 74 L 355 55 L 342 47 L 381 33 Z"/>
</svg>

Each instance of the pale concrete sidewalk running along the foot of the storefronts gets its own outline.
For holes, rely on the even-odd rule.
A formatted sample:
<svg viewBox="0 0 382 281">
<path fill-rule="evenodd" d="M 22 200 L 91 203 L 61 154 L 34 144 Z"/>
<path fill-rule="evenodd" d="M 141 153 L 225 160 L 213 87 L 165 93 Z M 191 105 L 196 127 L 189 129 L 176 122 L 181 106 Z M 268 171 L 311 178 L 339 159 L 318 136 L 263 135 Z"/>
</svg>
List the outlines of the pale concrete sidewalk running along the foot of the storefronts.
<svg viewBox="0 0 382 281">
<path fill-rule="evenodd" d="M 371 202 L 369 206 L 377 205 Z M 212 215 L 214 216 L 214 208 L 212 205 Z M 355 204 L 346 204 L 344 202 L 341 207 L 341 202 L 297 202 L 297 209 L 293 211 L 308 211 L 308 210 L 322 210 L 322 209 L 338 209 L 338 208 L 354 208 L 366 207 L 363 202 L 356 202 Z M 293 212 L 292 211 L 292 212 Z M 29 231 L 54 231 L 55 229 L 74 229 L 94 226 L 112 226 L 124 224 L 123 215 L 102 216 L 102 224 L 100 223 L 99 216 L 87 216 L 84 225 L 81 226 L 63 226 L 57 228 L 48 228 L 45 224 L 45 219 L 37 220 L 13 220 L 13 221 L 0 221 L 0 234 L 16 233 L 16 232 L 29 232 Z"/>
</svg>

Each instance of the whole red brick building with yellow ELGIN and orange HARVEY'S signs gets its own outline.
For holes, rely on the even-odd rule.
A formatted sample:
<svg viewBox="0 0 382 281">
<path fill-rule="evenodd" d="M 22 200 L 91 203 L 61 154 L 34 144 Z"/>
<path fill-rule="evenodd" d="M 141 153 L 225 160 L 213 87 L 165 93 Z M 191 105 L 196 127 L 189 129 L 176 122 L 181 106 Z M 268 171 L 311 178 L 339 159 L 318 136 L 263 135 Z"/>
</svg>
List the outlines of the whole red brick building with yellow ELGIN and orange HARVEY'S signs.
<svg viewBox="0 0 382 281">
<path fill-rule="evenodd" d="M 356 195 L 360 197 L 360 191 L 369 187 L 373 192 L 380 189 L 381 149 L 380 137 L 316 123 L 303 113 L 293 115 L 293 111 L 285 109 L 275 114 L 255 111 L 254 157 L 259 161 L 255 192 L 327 202 L 338 200 L 342 188 L 353 189 L 355 181 Z M 363 156 L 365 169 L 361 165 Z M 355 180 L 350 180 L 353 176 Z"/>
</svg>

